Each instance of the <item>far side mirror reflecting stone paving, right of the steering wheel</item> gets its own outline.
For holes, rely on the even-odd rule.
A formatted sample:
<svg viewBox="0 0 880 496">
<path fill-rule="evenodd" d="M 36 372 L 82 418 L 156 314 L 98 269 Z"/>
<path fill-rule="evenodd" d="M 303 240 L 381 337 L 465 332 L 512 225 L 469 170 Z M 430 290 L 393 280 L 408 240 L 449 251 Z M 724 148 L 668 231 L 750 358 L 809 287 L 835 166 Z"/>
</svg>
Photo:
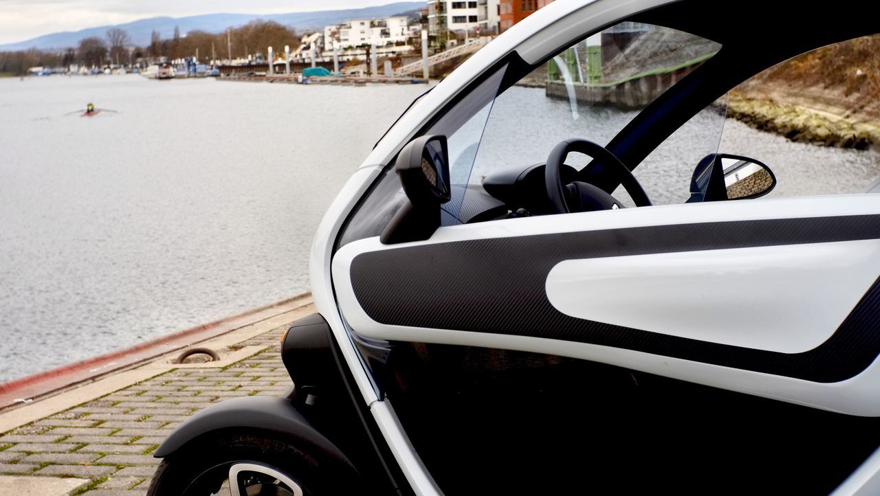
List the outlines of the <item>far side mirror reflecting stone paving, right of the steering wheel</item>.
<svg viewBox="0 0 880 496">
<path fill-rule="evenodd" d="M 693 171 L 688 203 L 758 198 L 775 186 L 776 176 L 766 164 L 754 158 L 712 153 Z"/>
</svg>

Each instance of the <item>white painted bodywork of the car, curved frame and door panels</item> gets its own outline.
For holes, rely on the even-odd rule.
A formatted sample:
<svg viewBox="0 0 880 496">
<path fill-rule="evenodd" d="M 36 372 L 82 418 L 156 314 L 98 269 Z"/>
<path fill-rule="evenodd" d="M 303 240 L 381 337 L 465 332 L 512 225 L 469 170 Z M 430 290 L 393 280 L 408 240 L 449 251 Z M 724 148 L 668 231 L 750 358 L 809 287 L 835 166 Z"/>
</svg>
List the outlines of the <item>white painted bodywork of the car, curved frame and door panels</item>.
<svg viewBox="0 0 880 496">
<path fill-rule="evenodd" d="M 400 149 L 437 112 L 493 64 L 514 51 L 525 62 L 537 63 L 552 55 L 561 40 L 575 40 L 617 19 L 669 3 L 559 0 L 535 12 L 473 55 L 403 115 L 348 179 L 327 210 L 312 245 L 312 297 L 319 313 L 332 327 L 364 402 L 370 405 L 385 441 L 417 494 L 440 494 L 441 490 L 407 439 L 392 405 L 378 395 L 348 329 L 369 339 L 487 346 L 600 361 L 832 412 L 880 416 L 880 365 L 876 360 L 845 380 L 816 381 L 563 339 L 386 325 L 370 317 L 358 300 L 350 274 L 353 261 L 365 253 L 475 239 L 653 228 L 671 223 L 877 215 L 880 199 L 876 194 L 721 201 L 444 226 L 426 241 L 389 245 L 382 244 L 378 237 L 368 237 L 345 244 L 334 252 L 343 223 L 385 166 L 392 163 Z M 812 268 L 804 272 L 803 266 Z M 556 310 L 569 317 L 650 328 L 681 339 L 776 354 L 803 354 L 832 338 L 877 274 L 880 274 L 880 240 L 865 236 L 837 242 L 756 244 L 723 250 L 563 259 L 546 277 L 546 295 Z M 810 281 L 825 281 L 825 284 L 810 284 Z M 634 286 L 637 299 L 648 302 L 635 312 L 628 311 L 615 297 Z M 698 294 L 694 293 L 695 286 L 699 286 Z M 725 298 L 729 295 L 736 297 Z M 744 308 L 749 311 L 741 311 Z M 683 318 L 687 320 L 686 325 L 682 325 Z M 880 493 L 878 474 L 880 453 L 876 452 L 835 494 Z"/>
</svg>

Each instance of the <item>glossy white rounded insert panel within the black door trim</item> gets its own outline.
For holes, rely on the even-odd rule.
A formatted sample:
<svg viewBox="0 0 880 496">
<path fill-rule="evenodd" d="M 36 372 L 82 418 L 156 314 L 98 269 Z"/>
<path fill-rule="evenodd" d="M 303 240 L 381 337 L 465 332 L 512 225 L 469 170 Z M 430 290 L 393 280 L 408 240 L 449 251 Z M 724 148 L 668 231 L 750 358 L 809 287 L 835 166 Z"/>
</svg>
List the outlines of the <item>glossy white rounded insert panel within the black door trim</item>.
<svg viewBox="0 0 880 496">
<path fill-rule="evenodd" d="M 800 354 L 832 337 L 877 274 L 880 240 L 867 239 L 567 259 L 545 290 L 569 317 Z"/>
</svg>

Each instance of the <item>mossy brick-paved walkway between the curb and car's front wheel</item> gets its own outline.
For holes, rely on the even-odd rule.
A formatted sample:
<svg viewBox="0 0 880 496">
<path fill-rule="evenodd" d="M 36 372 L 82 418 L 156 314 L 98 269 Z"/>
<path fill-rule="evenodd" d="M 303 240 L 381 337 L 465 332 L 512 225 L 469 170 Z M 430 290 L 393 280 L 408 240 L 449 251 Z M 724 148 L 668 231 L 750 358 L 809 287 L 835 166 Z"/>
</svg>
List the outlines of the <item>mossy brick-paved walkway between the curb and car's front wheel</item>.
<svg viewBox="0 0 880 496">
<path fill-rule="evenodd" d="M 168 369 L 165 357 L 157 361 L 165 364 L 165 371 L 156 376 L 100 391 L 105 394 L 99 398 L 0 434 L 0 496 L 27 494 L 12 489 L 19 485 L 56 487 L 61 483 L 55 478 L 82 479 L 72 492 L 64 487 L 55 490 L 60 491 L 57 494 L 146 494 L 158 465 L 151 453 L 189 415 L 227 398 L 278 396 L 290 387 L 279 340 L 293 320 L 313 311 L 308 304 L 279 316 L 284 319 L 282 325 L 275 319 L 268 331 L 225 346 L 226 354 L 236 359 L 236 354 L 250 352 L 238 361 L 221 361 L 220 367 L 209 362 Z M 29 407 L 39 407 L 39 403 Z M 0 426 L 4 415 L 0 414 Z M 40 496 L 54 496 L 49 491 Z"/>
</svg>

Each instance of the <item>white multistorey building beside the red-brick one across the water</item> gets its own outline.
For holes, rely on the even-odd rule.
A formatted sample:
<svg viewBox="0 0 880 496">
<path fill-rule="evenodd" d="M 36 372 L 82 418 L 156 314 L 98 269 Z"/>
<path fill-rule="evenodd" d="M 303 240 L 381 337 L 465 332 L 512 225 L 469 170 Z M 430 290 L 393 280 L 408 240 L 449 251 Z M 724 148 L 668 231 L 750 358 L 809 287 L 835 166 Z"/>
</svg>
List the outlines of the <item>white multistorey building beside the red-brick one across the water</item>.
<svg viewBox="0 0 880 496">
<path fill-rule="evenodd" d="M 428 26 L 432 34 L 498 34 L 500 21 L 500 0 L 428 0 Z"/>
</svg>

